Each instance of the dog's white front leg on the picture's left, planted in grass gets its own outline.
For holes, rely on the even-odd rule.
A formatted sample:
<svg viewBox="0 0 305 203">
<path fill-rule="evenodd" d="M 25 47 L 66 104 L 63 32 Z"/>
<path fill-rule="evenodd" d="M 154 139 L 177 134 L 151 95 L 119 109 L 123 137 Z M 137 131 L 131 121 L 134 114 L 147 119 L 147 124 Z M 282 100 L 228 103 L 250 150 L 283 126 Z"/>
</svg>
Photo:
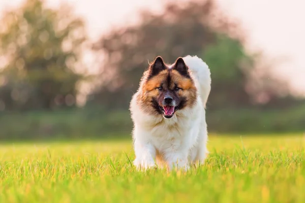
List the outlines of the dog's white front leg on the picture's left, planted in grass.
<svg viewBox="0 0 305 203">
<path fill-rule="evenodd" d="M 134 149 L 136 159 L 133 163 L 138 169 L 146 170 L 155 166 L 156 149 L 153 145 L 135 140 Z"/>
</svg>

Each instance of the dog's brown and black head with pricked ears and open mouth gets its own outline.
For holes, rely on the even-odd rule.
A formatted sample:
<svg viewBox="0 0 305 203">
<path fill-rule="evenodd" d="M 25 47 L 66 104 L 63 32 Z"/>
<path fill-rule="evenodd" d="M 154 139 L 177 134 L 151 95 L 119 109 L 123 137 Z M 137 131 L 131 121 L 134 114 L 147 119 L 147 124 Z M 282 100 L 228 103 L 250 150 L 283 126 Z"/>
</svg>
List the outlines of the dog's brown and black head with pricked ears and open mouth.
<svg viewBox="0 0 305 203">
<path fill-rule="evenodd" d="M 176 111 L 192 107 L 196 102 L 197 89 L 181 57 L 169 67 L 158 56 L 144 73 L 142 82 L 142 95 L 138 99 L 141 108 L 151 115 L 171 118 Z"/>
</svg>

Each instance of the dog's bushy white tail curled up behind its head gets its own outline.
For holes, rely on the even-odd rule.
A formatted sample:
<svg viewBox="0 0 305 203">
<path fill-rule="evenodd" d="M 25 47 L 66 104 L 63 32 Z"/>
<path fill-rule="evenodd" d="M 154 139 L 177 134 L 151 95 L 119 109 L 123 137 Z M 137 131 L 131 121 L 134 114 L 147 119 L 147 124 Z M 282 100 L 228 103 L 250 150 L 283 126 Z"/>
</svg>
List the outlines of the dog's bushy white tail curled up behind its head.
<svg viewBox="0 0 305 203">
<path fill-rule="evenodd" d="M 208 95 L 211 90 L 211 73 L 208 65 L 197 56 L 185 56 L 185 63 L 189 66 L 191 74 L 195 79 L 195 85 L 200 94 L 203 106 L 205 108 Z"/>
</svg>

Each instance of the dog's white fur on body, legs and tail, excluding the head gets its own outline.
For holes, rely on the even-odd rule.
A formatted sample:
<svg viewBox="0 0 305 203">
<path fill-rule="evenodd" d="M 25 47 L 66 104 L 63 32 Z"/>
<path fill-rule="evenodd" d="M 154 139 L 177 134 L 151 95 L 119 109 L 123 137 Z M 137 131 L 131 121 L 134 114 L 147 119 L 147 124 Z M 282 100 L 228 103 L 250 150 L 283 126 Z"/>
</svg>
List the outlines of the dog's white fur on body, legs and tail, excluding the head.
<svg viewBox="0 0 305 203">
<path fill-rule="evenodd" d="M 208 153 L 205 105 L 211 88 L 210 71 L 197 56 L 183 58 L 198 90 L 193 108 L 178 110 L 170 119 L 153 116 L 141 111 L 134 94 L 130 111 L 134 122 L 133 139 L 136 158 L 134 165 L 149 168 L 156 165 L 157 153 L 161 154 L 169 169 L 173 166 L 187 170 L 190 163 L 203 163 Z"/>
</svg>

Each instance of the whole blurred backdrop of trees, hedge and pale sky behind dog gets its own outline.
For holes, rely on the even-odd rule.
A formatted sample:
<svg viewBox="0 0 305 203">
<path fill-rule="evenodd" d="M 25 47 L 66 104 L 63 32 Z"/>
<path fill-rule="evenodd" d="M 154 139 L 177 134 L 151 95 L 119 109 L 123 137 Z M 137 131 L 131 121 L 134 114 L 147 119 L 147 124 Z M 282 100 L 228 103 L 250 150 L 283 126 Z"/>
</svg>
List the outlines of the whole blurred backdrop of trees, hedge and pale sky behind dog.
<svg viewBox="0 0 305 203">
<path fill-rule="evenodd" d="M 210 67 L 214 134 L 305 131 L 302 0 L 0 2 L 0 139 L 130 137 L 148 61 Z"/>
</svg>

